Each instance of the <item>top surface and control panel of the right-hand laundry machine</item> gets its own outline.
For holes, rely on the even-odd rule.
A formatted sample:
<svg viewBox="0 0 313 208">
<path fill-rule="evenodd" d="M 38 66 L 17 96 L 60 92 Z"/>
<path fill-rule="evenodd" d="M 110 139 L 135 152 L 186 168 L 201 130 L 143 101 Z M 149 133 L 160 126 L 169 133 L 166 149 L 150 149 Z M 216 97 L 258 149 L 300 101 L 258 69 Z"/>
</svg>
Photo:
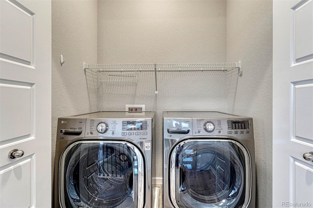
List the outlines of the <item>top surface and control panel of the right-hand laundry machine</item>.
<svg viewBox="0 0 313 208">
<path fill-rule="evenodd" d="M 253 119 L 217 111 L 163 112 L 163 138 L 181 139 L 191 136 L 253 139 Z"/>
</svg>

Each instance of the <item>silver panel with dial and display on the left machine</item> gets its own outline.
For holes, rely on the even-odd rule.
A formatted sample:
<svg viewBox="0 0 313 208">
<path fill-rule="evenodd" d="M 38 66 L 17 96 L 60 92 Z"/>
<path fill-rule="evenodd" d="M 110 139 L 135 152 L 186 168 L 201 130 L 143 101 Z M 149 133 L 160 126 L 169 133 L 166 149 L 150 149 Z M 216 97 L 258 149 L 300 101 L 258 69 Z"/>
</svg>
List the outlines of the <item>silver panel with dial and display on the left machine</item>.
<svg viewBox="0 0 313 208">
<path fill-rule="evenodd" d="M 151 119 L 87 119 L 85 137 L 127 137 L 152 140 Z"/>
</svg>

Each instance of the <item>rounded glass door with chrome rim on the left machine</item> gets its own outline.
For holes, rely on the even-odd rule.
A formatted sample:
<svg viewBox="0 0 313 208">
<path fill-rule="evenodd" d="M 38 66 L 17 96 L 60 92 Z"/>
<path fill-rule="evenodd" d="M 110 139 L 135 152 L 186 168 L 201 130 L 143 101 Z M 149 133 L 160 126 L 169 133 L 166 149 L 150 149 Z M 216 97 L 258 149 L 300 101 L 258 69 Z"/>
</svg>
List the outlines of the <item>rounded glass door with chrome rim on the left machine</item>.
<svg viewBox="0 0 313 208">
<path fill-rule="evenodd" d="M 63 208 L 144 207 L 144 157 L 126 141 L 78 141 L 60 160 Z"/>
</svg>

